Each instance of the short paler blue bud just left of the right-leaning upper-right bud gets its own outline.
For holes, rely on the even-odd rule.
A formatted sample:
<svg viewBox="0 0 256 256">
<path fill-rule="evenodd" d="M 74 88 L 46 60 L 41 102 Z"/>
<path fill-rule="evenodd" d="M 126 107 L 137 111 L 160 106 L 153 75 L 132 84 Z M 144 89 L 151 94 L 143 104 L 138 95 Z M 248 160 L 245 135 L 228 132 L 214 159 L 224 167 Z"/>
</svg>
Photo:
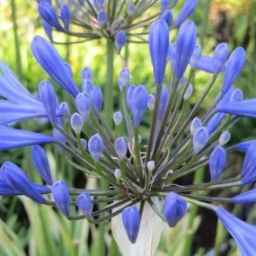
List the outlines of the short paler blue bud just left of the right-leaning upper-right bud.
<svg viewBox="0 0 256 256">
<path fill-rule="evenodd" d="M 214 73 L 219 74 L 225 69 L 225 62 L 228 57 L 227 43 L 221 43 L 216 46 L 213 57 Z"/>
</svg>

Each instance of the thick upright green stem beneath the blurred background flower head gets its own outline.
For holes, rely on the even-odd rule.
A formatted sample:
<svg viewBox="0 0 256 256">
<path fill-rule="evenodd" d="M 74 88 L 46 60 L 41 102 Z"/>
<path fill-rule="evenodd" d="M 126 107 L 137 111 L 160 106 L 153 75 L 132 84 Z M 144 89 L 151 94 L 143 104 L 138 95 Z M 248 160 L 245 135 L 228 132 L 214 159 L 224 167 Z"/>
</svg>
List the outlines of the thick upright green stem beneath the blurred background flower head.
<svg viewBox="0 0 256 256">
<path fill-rule="evenodd" d="M 104 117 L 111 127 L 112 124 L 112 112 L 113 112 L 113 75 L 114 75 L 114 43 L 112 40 L 107 40 L 107 77 L 106 86 L 104 91 Z"/>
</svg>

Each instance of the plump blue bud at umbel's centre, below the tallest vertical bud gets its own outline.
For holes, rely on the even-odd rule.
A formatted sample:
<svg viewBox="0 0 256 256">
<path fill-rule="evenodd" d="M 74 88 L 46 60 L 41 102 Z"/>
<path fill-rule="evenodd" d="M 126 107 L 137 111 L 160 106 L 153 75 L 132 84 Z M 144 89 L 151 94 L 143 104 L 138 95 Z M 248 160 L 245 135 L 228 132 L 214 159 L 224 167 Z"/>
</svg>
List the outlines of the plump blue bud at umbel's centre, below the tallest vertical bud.
<svg viewBox="0 0 256 256">
<path fill-rule="evenodd" d="M 137 86 L 132 95 L 131 114 L 134 126 L 137 127 L 141 123 L 147 108 L 148 93 L 146 87 L 144 85 Z"/>
</svg>

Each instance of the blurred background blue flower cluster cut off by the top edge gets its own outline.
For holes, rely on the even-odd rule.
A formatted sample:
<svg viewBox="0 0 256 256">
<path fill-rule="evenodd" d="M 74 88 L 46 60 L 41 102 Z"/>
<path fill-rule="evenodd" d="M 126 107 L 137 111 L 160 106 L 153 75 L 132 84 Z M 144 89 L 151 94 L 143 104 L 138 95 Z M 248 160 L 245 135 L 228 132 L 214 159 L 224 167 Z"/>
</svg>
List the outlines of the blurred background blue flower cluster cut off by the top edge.
<svg viewBox="0 0 256 256">
<path fill-rule="evenodd" d="M 167 22 L 170 29 L 179 27 L 194 12 L 198 4 L 198 0 L 186 1 L 181 13 L 173 22 L 172 8 L 177 2 L 71 0 L 68 4 L 58 1 L 58 4 L 54 5 L 50 0 L 38 0 L 38 11 L 42 26 L 51 41 L 56 41 L 53 31 L 84 39 L 75 42 L 106 38 L 115 40 L 119 52 L 127 41 L 146 43 L 145 29 L 159 17 Z M 155 6 L 156 8 L 153 8 Z M 158 13 L 150 12 L 159 8 L 161 11 Z"/>
</svg>

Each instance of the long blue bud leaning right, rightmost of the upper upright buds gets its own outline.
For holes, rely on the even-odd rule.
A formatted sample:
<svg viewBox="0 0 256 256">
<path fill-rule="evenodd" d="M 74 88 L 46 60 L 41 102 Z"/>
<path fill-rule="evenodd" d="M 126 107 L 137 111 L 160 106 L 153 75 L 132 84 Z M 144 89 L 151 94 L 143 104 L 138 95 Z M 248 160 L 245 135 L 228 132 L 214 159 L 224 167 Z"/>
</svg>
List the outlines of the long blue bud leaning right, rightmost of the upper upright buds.
<svg viewBox="0 0 256 256">
<path fill-rule="evenodd" d="M 222 93 L 226 93 L 234 84 L 235 79 L 240 74 L 245 62 L 246 53 L 242 47 L 234 49 L 228 58 L 225 66 L 224 82 L 221 89 Z"/>
</svg>

